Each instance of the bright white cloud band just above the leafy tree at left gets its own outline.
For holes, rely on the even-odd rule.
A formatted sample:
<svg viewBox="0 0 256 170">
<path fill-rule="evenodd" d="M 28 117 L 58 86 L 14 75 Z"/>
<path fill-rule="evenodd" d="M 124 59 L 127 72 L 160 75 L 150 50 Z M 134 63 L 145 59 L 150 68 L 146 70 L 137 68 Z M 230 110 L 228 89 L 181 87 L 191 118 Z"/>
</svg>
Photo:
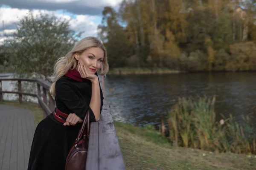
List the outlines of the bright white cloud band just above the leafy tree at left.
<svg viewBox="0 0 256 170">
<path fill-rule="evenodd" d="M 75 31 L 83 31 L 82 37 L 87 36 L 97 36 L 97 23 L 93 20 L 96 16 L 90 15 L 74 15 L 76 19 L 73 19 L 67 14 L 59 14 L 56 11 L 41 10 L 43 14 L 54 14 L 56 17 L 70 20 L 70 27 Z M 25 17 L 29 13 L 27 9 L 17 9 L 17 8 L 0 8 L 0 21 L 4 21 L 5 30 L 0 31 L 0 44 L 3 43 L 3 33 L 9 34 L 16 31 L 15 23 Z M 34 16 L 40 13 L 40 10 L 32 10 Z M 0 30 L 1 30 L 0 26 Z"/>
</svg>

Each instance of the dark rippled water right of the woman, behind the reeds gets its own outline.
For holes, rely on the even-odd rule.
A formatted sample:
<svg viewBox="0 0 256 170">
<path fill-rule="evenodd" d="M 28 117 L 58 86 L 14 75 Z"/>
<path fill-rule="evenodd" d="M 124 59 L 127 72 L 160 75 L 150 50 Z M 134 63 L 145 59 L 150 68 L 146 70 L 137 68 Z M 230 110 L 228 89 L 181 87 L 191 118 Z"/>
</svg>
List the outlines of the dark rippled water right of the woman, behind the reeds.
<svg viewBox="0 0 256 170">
<path fill-rule="evenodd" d="M 216 96 L 215 111 L 224 116 L 256 113 L 256 72 L 164 75 L 108 75 L 105 104 L 113 119 L 145 125 L 160 124 L 179 96 Z"/>
</svg>

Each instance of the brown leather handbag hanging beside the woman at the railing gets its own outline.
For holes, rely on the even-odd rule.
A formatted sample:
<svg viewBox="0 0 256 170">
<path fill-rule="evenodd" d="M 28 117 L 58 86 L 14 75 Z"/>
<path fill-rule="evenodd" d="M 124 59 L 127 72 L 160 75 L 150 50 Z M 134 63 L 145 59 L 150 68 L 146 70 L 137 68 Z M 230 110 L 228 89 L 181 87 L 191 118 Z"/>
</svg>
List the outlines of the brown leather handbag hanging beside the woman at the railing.
<svg viewBox="0 0 256 170">
<path fill-rule="evenodd" d="M 90 134 L 89 110 L 66 159 L 65 170 L 85 170 Z"/>
</svg>

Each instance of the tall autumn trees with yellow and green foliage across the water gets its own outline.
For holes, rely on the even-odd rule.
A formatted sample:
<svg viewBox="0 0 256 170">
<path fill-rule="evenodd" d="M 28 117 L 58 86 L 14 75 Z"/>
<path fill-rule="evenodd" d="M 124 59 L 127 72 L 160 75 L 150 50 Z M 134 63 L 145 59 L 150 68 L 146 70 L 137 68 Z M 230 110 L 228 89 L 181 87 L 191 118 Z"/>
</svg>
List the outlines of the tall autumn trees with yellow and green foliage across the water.
<svg viewBox="0 0 256 170">
<path fill-rule="evenodd" d="M 255 0 L 123 0 L 99 37 L 110 66 L 255 71 Z"/>
</svg>

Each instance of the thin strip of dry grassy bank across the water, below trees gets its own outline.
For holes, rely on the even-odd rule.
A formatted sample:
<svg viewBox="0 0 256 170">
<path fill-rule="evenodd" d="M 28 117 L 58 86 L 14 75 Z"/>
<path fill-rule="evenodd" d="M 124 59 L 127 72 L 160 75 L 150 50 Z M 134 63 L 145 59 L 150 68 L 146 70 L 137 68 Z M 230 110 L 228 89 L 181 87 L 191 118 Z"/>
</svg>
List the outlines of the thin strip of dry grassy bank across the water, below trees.
<svg viewBox="0 0 256 170">
<path fill-rule="evenodd" d="M 108 74 L 173 74 L 181 71 L 169 68 L 112 68 Z"/>
</svg>

